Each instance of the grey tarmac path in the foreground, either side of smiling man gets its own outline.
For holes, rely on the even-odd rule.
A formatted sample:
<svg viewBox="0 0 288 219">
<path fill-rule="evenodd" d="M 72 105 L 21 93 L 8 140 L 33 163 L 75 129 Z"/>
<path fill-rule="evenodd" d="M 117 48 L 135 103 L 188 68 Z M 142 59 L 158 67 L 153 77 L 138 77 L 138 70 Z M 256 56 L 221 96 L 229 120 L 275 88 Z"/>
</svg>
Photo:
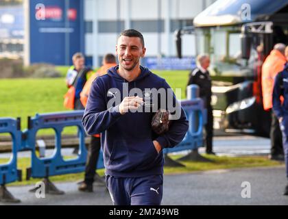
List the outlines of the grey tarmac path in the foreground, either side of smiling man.
<svg viewBox="0 0 288 219">
<path fill-rule="evenodd" d="M 243 181 L 251 188 L 250 198 L 242 198 Z M 274 168 L 246 168 L 242 170 L 213 170 L 184 175 L 165 175 L 163 205 L 288 205 L 283 196 L 284 166 Z M 111 205 L 104 187 L 95 187 L 93 193 L 77 191 L 73 183 L 56 183 L 64 195 L 46 195 L 36 198 L 27 192 L 31 186 L 9 187 L 17 205 Z M 0 204 L 3 205 L 3 204 Z"/>
</svg>

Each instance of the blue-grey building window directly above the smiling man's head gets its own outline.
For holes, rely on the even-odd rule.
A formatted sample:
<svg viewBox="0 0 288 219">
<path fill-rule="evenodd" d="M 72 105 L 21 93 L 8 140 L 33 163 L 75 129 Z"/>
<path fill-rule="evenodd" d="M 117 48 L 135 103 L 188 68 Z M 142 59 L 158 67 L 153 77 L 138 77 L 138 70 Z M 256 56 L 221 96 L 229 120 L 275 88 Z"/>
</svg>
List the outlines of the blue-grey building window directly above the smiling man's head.
<svg viewBox="0 0 288 219">
<path fill-rule="evenodd" d="M 136 29 L 141 32 L 163 32 L 164 21 L 163 20 L 152 20 L 152 21 L 131 21 L 132 29 Z"/>
</svg>

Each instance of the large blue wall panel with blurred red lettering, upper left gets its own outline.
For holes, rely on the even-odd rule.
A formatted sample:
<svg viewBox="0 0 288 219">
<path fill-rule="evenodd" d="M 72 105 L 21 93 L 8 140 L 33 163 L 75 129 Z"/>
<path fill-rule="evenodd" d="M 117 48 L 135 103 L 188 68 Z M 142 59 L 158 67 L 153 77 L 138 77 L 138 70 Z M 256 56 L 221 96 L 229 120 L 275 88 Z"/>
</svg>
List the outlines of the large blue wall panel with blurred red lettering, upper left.
<svg viewBox="0 0 288 219">
<path fill-rule="evenodd" d="M 71 65 L 84 51 L 83 1 L 29 1 L 30 63 Z"/>
</svg>

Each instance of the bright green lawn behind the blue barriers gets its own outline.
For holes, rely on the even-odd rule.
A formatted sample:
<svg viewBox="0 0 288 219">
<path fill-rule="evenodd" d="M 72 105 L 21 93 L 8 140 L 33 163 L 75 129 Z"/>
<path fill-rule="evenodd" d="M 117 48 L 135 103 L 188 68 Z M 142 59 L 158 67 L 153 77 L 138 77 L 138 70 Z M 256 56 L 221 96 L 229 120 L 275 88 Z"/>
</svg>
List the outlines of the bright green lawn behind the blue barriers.
<svg viewBox="0 0 288 219">
<path fill-rule="evenodd" d="M 63 75 L 67 66 L 57 66 Z M 188 71 L 155 70 L 154 73 L 167 80 L 171 88 L 181 88 L 185 98 Z M 36 113 L 67 111 L 63 107 L 63 96 L 67 92 L 64 77 L 51 79 L 1 79 L 0 118 L 21 117 L 21 129 L 27 128 L 27 116 Z M 47 131 L 51 133 L 51 131 Z"/>
</svg>

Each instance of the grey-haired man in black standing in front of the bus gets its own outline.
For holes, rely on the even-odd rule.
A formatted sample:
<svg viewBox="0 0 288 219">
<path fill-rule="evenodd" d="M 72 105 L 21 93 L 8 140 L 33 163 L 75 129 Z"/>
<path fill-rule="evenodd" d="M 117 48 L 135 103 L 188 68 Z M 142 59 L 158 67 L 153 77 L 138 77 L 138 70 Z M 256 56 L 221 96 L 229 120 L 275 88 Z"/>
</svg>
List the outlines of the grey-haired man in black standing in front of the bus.
<svg viewBox="0 0 288 219">
<path fill-rule="evenodd" d="M 210 58 L 208 55 L 197 55 L 197 67 L 191 70 L 187 86 L 193 83 L 197 84 L 200 88 L 200 98 L 204 101 L 204 107 L 207 109 L 207 123 L 205 125 L 206 153 L 209 155 L 215 155 L 213 152 L 213 108 L 211 106 L 212 83 L 208 72 L 209 65 Z"/>
</svg>

